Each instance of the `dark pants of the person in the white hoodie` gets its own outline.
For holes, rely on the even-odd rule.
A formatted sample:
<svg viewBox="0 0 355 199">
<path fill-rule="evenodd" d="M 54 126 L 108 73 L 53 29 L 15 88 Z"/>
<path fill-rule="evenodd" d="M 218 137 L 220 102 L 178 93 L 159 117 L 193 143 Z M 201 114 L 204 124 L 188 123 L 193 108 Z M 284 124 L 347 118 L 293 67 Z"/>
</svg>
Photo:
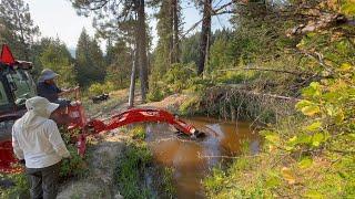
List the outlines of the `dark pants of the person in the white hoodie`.
<svg viewBox="0 0 355 199">
<path fill-rule="evenodd" d="M 26 168 L 32 199 L 55 199 L 60 163 L 45 168 Z"/>
</svg>

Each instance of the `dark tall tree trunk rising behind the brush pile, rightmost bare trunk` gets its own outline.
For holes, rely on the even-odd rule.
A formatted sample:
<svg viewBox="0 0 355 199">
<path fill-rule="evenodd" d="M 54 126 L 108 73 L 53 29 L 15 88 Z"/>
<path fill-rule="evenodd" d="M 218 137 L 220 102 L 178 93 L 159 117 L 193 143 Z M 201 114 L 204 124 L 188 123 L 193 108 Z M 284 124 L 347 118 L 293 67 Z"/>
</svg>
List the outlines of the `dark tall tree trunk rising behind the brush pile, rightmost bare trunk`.
<svg viewBox="0 0 355 199">
<path fill-rule="evenodd" d="M 204 71 L 206 63 L 207 50 L 210 49 L 209 42 L 211 36 L 211 10 L 212 10 L 212 0 L 204 0 L 203 6 L 203 20 L 202 20 L 202 31 L 201 31 L 201 43 L 200 43 L 200 62 L 197 74 L 201 75 Z"/>
</svg>

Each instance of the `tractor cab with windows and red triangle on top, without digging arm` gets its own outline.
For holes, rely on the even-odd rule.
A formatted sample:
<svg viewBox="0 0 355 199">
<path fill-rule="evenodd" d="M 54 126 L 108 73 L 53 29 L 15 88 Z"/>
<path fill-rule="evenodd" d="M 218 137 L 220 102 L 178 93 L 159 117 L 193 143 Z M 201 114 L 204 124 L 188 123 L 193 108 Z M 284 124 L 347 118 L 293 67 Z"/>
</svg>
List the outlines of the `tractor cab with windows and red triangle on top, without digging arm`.
<svg viewBox="0 0 355 199">
<path fill-rule="evenodd" d="M 36 84 L 30 75 L 32 63 L 16 61 L 8 45 L 0 54 L 0 168 L 12 160 L 11 128 L 26 112 L 26 100 L 36 96 Z M 7 158 L 2 156 L 9 156 Z M 2 159 L 2 160 L 1 160 Z"/>
</svg>

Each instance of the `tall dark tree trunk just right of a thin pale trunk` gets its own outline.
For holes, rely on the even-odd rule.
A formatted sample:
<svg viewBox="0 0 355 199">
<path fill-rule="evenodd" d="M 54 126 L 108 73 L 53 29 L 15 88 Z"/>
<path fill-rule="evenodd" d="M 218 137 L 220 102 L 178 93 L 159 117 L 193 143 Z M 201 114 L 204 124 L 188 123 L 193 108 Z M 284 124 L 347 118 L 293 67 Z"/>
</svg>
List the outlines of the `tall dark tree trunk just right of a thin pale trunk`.
<svg viewBox="0 0 355 199">
<path fill-rule="evenodd" d="M 145 30 L 145 11 L 144 0 L 139 0 L 138 4 L 138 43 L 140 60 L 140 80 L 142 102 L 145 102 L 148 92 L 148 59 L 146 59 L 146 30 Z"/>
</svg>

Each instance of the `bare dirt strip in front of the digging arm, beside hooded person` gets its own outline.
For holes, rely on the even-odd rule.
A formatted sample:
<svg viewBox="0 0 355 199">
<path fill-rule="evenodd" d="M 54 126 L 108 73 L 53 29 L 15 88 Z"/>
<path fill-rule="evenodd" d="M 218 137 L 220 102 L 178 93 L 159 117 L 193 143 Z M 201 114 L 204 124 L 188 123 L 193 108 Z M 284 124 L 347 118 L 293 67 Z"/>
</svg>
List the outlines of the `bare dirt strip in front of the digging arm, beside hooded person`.
<svg viewBox="0 0 355 199">
<path fill-rule="evenodd" d="M 114 190 L 114 169 L 124 150 L 124 139 L 125 136 L 119 130 L 100 137 L 99 143 L 88 151 L 88 176 L 67 182 L 58 198 L 122 198 Z"/>
</svg>

